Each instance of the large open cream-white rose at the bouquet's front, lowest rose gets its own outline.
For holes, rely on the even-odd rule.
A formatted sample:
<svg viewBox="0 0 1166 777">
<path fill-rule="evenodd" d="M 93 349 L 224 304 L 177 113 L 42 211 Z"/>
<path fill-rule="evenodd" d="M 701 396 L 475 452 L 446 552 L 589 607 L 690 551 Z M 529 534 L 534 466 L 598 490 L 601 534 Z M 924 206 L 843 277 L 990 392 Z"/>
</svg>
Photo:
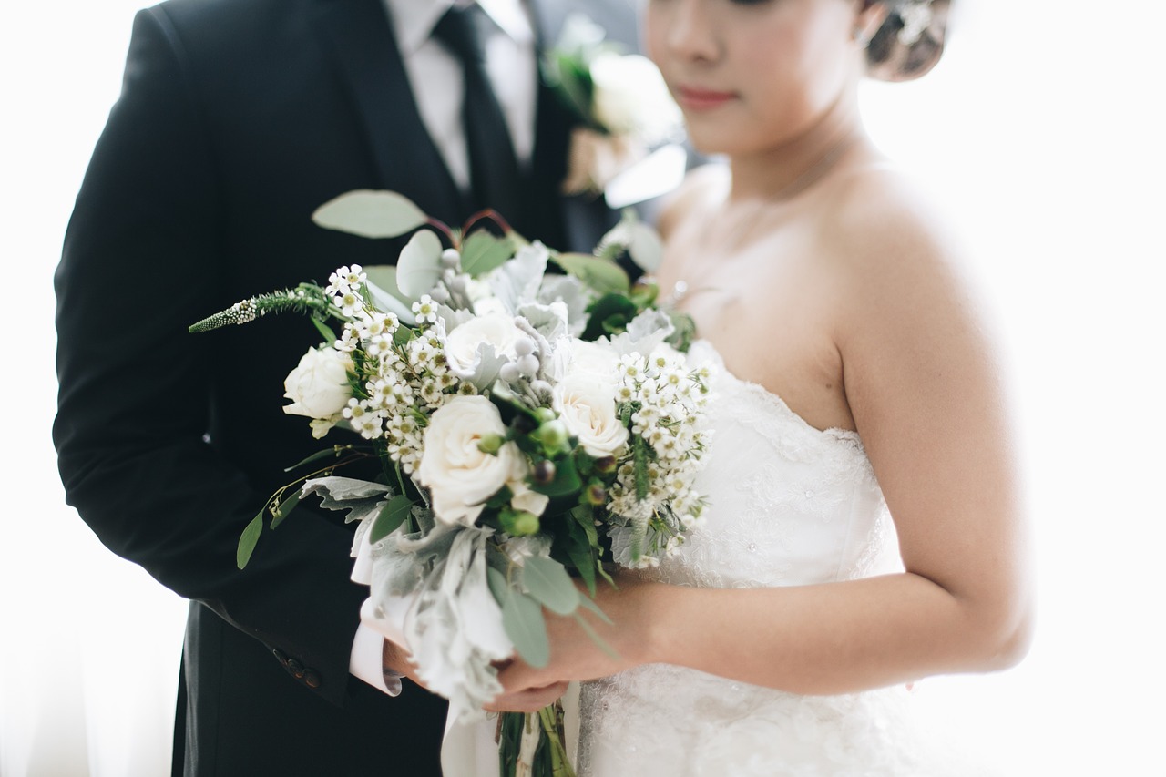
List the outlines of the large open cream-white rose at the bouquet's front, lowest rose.
<svg viewBox="0 0 1166 777">
<path fill-rule="evenodd" d="M 485 397 L 454 397 L 429 416 L 416 477 L 430 491 L 437 520 L 472 526 L 483 503 L 522 471 L 522 454 L 513 442 L 497 455 L 478 450 L 491 434 L 505 435 L 506 427 Z"/>
</svg>

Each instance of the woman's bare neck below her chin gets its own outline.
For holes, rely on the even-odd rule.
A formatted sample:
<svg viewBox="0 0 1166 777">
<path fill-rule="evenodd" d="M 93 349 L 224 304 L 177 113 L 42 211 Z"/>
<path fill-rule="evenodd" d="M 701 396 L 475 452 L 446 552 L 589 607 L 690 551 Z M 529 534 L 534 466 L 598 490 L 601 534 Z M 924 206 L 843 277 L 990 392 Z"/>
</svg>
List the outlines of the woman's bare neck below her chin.
<svg viewBox="0 0 1166 777">
<path fill-rule="evenodd" d="M 866 132 L 855 100 L 840 100 L 816 123 L 771 147 L 731 155 L 730 202 L 792 198 L 824 177 Z"/>
</svg>

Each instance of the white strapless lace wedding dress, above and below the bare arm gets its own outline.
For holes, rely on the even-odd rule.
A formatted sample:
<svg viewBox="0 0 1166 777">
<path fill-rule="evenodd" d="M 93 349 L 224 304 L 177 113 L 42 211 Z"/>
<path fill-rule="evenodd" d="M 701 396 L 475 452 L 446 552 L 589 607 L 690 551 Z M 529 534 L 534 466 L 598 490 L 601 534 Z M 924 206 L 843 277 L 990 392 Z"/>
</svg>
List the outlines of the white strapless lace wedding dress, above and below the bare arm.
<svg viewBox="0 0 1166 777">
<path fill-rule="evenodd" d="M 716 359 L 698 343 L 693 358 Z M 719 369 L 697 480 L 705 522 L 647 569 L 683 586 L 831 582 L 898 565 L 881 491 L 854 432 L 819 430 Z M 906 691 L 795 694 L 652 664 L 581 692 L 581 776 L 913 775 Z"/>
</svg>

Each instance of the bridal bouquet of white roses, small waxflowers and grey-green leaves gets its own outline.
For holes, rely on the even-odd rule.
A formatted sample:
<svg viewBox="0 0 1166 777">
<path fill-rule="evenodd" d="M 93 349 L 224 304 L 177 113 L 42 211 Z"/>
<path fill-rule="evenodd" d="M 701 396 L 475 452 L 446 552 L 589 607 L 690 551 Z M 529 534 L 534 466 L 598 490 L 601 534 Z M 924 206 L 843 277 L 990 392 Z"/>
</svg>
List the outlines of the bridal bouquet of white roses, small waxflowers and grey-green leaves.
<svg viewBox="0 0 1166 777">
<path fill-rule="evenodd" d="M 321 452 L 309 461 L 322 469 L 273 495 L 239 566 L 268 514 L 274 527 L 312 494 L 346 510 L 374 610 L 403 612 L 419 678 L 472 721 L 503 690 L 493 663 L 549 660 L 543 608 L 599 642 L 580 608 L 604 616 L 573 578 L 593 596 L 610 582 L 605 561 L 655 564 L 700 520 L 709 374 L 682 354 L 691 322 L 654 307 L 655 288 L 630 287 L 612 260 L 628 251 L 654 266 L 659 244 L 634 219 L 586 256 L 508 229 L 451 230 L 394 192 L 350 192 L 314 218 L 366 237 L 414 233 L 395 267 L 340 267 L 325 287 L 255 296 L 191 327 L 311 314 L 324 342 L 288 376 L 283 410 L 308 416 L 316 438 L 339 427 L 360 441 Z M 550 264 L 567 274 L 546 274 Z M 360 457 L 381 476 L 335 474 Z M 561 709 L 532 723 L 504 715 L 503 774 L 570 775 Z"/>
</svg>

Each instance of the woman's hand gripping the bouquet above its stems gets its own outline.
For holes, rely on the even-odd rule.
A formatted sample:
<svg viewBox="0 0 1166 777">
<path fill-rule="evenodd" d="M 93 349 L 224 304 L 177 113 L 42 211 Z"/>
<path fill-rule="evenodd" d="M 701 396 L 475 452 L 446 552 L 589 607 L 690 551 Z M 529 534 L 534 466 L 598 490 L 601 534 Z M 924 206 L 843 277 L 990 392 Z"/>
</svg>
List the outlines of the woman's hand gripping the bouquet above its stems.
<svg viewBox="0 0 1166 777">
<path fill-rule="evenodd" d="M 663 588 L 645 583 L 630 575 L 616 579 L 618 589 L 599 582 L 595 602 L 611 618 L 604 623 L 593 612 L 578 608 L 580 617 L 610 645 L 614 656 L 604 651 L 578 624 L 574 615 L 559 616 L 543 610 L 550 639 L 550 662 L 535 668 L 515 657 L 498 673 L 506 694 L 522 693 L 550 682 L 592 680 L 651 662 L 651 617 L 653 597 Z M 582 582 L 577 583 L 586 595 Z"/>
</svg>

